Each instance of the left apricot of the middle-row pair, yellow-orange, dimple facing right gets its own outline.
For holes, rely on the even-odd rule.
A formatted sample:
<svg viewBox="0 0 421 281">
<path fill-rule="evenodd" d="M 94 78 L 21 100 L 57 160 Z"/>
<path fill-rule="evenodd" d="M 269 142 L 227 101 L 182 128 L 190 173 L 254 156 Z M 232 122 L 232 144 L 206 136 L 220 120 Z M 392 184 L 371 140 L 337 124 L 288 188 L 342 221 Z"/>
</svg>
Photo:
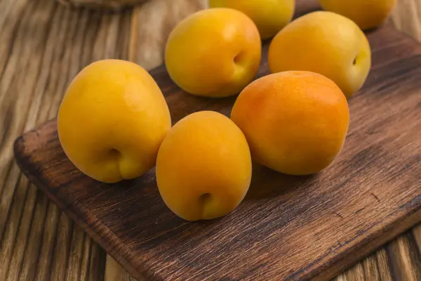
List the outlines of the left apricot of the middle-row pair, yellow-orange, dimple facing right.
<svg viewBox="0 0 421 281">
<path fill-rule="evenodd" d="M 258 28 L 232 8 L 210 8 L 185 18 L 168 37 L 166 69 L 181 89 L 220 98 L 239 93 L 260 65 Z"/>
</svg>

